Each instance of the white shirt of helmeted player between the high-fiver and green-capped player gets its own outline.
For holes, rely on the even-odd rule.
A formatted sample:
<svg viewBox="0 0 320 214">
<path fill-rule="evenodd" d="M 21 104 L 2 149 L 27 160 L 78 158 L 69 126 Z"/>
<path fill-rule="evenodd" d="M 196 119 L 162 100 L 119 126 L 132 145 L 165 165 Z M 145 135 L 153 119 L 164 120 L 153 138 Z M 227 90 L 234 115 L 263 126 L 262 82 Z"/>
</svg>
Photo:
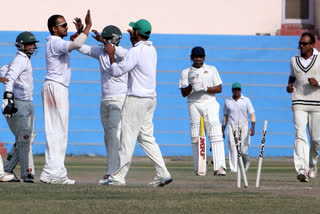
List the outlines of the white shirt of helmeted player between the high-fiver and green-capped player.
<svg viewBox="0 0 320 214">
<path fill-rule="evenodd" d="M 120 77 L 113 77 L 111 75 L 109 55 L 106 53 L 103 47 L 82 45 L 79 51 L 85 55 L 99 60 L 102 85 L 101 99 L 123 96 L 127 94 L 128 74 L 126 73 Z M 116 47 L 115 55 L 117 56 L 117 62 L 119 62 L 127 54 L 127 52 L 128 50 L 125 48 Z"/>
</svg>

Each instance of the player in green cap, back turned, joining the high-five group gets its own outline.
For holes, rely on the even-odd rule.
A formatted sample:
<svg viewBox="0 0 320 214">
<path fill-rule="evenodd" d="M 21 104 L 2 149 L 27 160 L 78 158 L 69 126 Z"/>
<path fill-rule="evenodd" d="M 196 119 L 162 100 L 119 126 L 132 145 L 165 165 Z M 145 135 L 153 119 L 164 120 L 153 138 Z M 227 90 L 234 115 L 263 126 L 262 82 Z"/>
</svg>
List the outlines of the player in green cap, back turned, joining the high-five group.
<svg viewBox="0 0 320 214">
<path fill-rule="evenodd" d="M 115 59 L 115 47 L 106 43 L 110 57 L 112 76 L 128 73 L 128 92 L 121 115 L 121 143 L 119 150 L 120 168 L 104 182 L 104 185 L 125 185 L 137 139 L 152 160 L 156 176 L 150 187 L 164 186 L 172 182 L 159 145 L 153 136 L 153 114 L 156 107 L 157 52 L 151 41 L 151 24 L 140 19 L 129 24 L 133 47 L 119 63 Z"/>
</svg>

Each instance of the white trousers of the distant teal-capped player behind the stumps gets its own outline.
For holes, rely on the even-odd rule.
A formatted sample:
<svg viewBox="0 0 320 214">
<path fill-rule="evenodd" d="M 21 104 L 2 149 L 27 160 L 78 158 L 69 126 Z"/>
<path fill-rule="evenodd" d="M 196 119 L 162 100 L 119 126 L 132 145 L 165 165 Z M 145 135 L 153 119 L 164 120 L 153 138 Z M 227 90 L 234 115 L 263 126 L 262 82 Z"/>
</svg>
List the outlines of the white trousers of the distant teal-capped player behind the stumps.
<svg viewBox="0 0 320 214">
<path fill-rule="evenodd" d="M 235 126 L 238 129 L 238 126 Z M 250 134 L 249 134 L 248 125 L 241 127 L 241 154 L 242 160 L 244 164 L 244 168 L 248 170 L 249 168 L 249 156 L 248 156 L 248 148 L 250 146 Z M 233 132 L 231 124 L 227 126 L 227 135 L 228 135 L 228 151 L 229 151 L 229 166 L 231 172 L 236 172 L 238 169 L 238 152 L 236 148 L 236 144 L 234 142 Z"/>
</svg>

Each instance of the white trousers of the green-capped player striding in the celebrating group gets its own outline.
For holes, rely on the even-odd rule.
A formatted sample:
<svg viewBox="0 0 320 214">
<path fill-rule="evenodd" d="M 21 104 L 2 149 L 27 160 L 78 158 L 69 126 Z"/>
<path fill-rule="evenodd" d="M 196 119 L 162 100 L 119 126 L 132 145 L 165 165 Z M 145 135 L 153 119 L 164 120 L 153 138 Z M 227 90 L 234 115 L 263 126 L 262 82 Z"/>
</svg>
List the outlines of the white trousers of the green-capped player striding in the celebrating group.
<svg viewBox="0 0 320 214">
<path fill-rule="evenodd" d="M 156 168 L 156 178 L 170 177 L 153 136 L 152 119 L 155 107 L 155 98 L 126 97 L 121 116 L 120 168 L 110 176 L 111 180 L 125 183 L 137 139 Z"/>
</svg>

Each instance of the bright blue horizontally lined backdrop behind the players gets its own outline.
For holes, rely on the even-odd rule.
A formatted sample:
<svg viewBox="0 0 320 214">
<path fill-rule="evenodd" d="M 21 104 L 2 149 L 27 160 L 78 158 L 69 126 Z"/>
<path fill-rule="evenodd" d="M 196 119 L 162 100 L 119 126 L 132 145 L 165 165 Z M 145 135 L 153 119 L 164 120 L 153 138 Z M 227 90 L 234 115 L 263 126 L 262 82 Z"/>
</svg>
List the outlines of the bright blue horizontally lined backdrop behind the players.
<svg viewBox="0 0 320 214">
<path fill-rule="evenodd" d="M 0 31 L 0 66 L 15 56 L 15 38 L 19 32 Z M 39 52 L 32 57 L 34 68 L 34 103 L 36 109 L 34 153 L 45 151 L 41 87 L 45 75 L 45 38 L 47 32 L 35 32 Z M 297 36 L 233 36 L 153 34 L 157 48 L 157 108 L 154 132 L 163 155 L 191 155 L 187 100 L 180 94 L 180 72 L 190 66 L 190 51 L 194 46 L 206 49 L 206 63 L 220 72 L 223 91 L 217 95 L 220 119 L 224 100 L 231 95 L 231 84 L 239 81 L 243 94 L 256 110 L 256 135 L 251 138 L 249 154 L 258 156 L 264 120 L 269 121 L 266 156 L 292 156 L 294 129 L 290 95 L 285 87 L 290 73 L 289 60 L 298 53 Z M 89 38 L 86 44 L 98 45 Z M 130 48 L 124 34 L 120 43 Z M 69 144 L 67 154 L 106 155 L 103 128 L 100 122 L 100 71 L 97 60 L 73 52 L 70 85 Z M 3 93 L 3 86 L 0 87 Z M 0 137 L 10 149 L 14 136 L 5 118 L 0 118 Z M 227 143 L 227 141 L 226 141 Z M 226 144 L 227 145 L 227 144 Z M 209 146 L 209 145 L 208 145 Z M 227 147 L 226 147 L 227 148 Z M 144 155 L 137 146 L 134 155 Z"/>
</svg>

